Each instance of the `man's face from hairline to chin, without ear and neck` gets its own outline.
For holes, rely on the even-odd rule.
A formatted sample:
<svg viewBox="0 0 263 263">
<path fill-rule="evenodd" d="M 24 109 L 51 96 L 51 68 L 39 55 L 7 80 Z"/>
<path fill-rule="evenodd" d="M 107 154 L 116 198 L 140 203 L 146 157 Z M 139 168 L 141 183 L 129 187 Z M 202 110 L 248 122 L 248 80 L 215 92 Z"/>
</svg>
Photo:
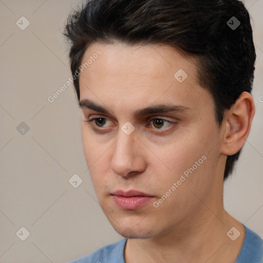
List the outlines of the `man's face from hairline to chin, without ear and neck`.
<svg viewBox="0 0 263 263">
<path fill-rule="evenodd" d="M 222 132 L 194 61 L 167 46 L 99 43 L 86 50 L 82 63 L 89 59 L 80 74 L 82 141 L 112 226 L 124 236 L 149 238 L 206 220 L 203 203 L 216 210 L 222 195 Z M 166 106 L 175 108 L 142 111 Z"/>
</svg>

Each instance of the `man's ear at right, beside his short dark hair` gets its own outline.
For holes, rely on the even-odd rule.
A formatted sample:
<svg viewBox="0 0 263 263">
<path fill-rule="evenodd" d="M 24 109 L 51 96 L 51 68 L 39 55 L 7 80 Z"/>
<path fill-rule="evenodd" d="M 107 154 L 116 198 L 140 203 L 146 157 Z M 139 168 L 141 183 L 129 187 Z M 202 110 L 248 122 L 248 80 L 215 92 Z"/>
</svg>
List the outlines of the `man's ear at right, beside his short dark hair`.
<svg viewBox="0 0 263 263">
<path fill-rule="evenodd" d="M 221 153 L 236 154 L 246 142 L 253 117 L 255 104 L 249 92 L 242 92 L 235 104 L 225 112 L 222 122 L 223 139 Z"/>
</svg>

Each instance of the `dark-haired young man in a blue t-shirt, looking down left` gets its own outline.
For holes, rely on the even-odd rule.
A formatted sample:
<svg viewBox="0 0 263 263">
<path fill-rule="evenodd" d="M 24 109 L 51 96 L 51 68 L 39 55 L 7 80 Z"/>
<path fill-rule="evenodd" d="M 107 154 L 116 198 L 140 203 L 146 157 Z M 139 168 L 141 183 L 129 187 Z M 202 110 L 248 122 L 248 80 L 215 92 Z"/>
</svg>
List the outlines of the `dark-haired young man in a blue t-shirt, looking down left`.
<svg viewBox="0 0 263 263">
<path fill-rule="evenodd" d="M 223 207 L 255 113 L 244 5 L 91 0 L 64 34 L 89 173 L 124 237 L 74 262 L 262 262 Z"/>
</svg>

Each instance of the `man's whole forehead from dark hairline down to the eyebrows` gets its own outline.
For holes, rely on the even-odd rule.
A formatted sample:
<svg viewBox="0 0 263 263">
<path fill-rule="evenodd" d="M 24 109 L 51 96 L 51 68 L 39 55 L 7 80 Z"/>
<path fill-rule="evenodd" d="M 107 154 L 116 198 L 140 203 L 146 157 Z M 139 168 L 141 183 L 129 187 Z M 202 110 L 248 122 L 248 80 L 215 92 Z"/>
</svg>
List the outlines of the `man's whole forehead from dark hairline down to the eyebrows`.
<svg viewBox="0 0 263 263">
<path fill-rule="evenodd" d="M 82 59 L 80 97 L 113 111 L 155 102 L 198 108 L 211 96 L 198 85 L 194 62 L 170 46 L 93 43 Z"/>
</svg>

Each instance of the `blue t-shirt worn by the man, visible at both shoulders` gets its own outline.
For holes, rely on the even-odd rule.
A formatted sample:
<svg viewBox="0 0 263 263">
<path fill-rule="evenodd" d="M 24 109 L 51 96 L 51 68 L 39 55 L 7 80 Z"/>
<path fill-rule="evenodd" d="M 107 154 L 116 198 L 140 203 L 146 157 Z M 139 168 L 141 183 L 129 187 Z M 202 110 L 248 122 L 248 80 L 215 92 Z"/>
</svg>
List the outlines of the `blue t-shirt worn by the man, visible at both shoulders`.
<svg viewBox="0 0 263 263">
<path fill-rule="evenodd" d="M 235 263 L 262 263 L 262 239 L 247 227 L 245 230 L 245 239 Z M 124 238 L 71 263 L 125 263 L 124 247 L 126 241 L 127 239 Z"/>
</svg>

